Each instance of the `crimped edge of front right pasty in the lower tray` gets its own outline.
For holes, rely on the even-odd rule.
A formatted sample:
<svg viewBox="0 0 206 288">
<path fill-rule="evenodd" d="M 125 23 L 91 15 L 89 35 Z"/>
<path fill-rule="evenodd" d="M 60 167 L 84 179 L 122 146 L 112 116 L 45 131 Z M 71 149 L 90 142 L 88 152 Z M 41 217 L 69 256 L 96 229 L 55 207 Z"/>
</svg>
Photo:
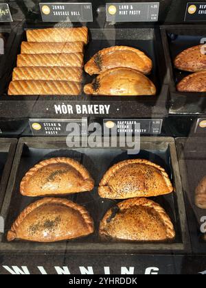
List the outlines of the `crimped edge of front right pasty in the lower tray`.
<svg viewBox="0 0 206 288">
<path fill-rule="evenodd" d="M 172 224 L 172 221 L 170 219 L 170 217 L 168 216 L 168 214 L 165 212 L 165 210 L 156 202 L 152 201 L 152 200 L 148 200 L 147 198 L 141 197 L 135 197 L 133 199 L 129 199 L 129 200 L 125 200 L 123 202 L 120 202 L 116 205 L 120 211 L 124 211 L 128 208 L 131 208 L 133 206 L 144 206 L 144 207 L 149 207 L 149 208 L 153 208 L 155 209 L 155 211 L 157 211 L 157 213 L 159 213 L 161 219 L 163 220 L 163 223 L 165 224 L 165 228 L 167 230 L 167 239 L 174 239 L 176 233 L 174 231 L 174 225 Z M 111 217 L 112 214 L 112 208 L 109 209 L 106 213 L 106 215 L 104 215 L 102 221 L 100 222 L 100 236 L 105 236 L 105 237 L 112 237 L 112 235 L 108 235 L 108 233 L 106 233 L 105 228 L 107 225 L 106 219 L 108 219 L 109 217 Z M 118 214 L 118 213 L 117 213 Z M 115 215 L 116 217 L 116 215 Z"/>
</svg>

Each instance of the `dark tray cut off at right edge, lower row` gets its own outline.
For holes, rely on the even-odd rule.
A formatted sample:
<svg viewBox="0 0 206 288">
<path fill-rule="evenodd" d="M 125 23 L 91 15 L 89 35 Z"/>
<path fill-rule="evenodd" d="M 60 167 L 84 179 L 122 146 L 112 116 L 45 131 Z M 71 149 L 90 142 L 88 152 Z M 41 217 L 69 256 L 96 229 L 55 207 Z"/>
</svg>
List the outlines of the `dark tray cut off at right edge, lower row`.
<svg viewBox="0 0 206 288">
<path fill-rule="evenodd" d="M 206 175 L 205 145 L 206 139 L 201 137 L 176 139 L 192 250 L 196 254 L 206 252 L 206 241 L 204 241 L 204 234 L 201 232 L 201 225 L 203 224 L 201 217 L 205 217 L 205 210 L 198 208 L 195 204 L 196 187 Z"/>
</svg>

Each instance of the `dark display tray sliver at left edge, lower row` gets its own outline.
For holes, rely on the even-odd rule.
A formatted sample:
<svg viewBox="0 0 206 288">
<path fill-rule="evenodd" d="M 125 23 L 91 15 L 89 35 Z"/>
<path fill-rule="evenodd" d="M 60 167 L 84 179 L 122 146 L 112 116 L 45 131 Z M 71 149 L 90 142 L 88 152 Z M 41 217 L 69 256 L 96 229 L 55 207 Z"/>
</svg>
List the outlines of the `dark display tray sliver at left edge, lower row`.
<svg viewBox="0 0 206 288">
<path fill-rule="evenodd" d="M 16 139 L 0 139 L 0 208 L 10 178 L 16 144 Z"/>
</svg>

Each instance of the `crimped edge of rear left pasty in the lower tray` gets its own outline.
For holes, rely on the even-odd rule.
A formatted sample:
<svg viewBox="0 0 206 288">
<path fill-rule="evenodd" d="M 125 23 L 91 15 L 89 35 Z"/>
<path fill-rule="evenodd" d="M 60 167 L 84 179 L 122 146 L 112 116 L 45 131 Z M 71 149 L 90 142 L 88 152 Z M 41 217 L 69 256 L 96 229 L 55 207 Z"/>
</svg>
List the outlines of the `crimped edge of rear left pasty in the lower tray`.
<svg viewBox="0 0 206 288">
<path fill-rule="evenodd" d="M 93 178 L 91 178 L 89 171 L 82 164 L 80 164 L 78 161 L 71 159 L 71 158 L 58 157 L 58 158 L 50 158 L 47 160 L 43 160 L 40 163 L 36 164 L 34 167 L 32 167 L 29 171 L 27 171 L 27 173 L 21 180 L 20 193 L 24 196 L 26 195 L 30 196 L 30 193 L 27 193 L 25 191 L 25 185 L 30 180 L 30 178 L 34 175 L 34 173 L 36 173 L 36 171 L 38 171 L 39 169 L 46 167 L 47 165 L 57 164 L 57 163 L 67 164 L 73 167 L 74 169 L 76 169 L 82 175 L 82 178 L 84 179 L 84 181 L 88 182 L 87 191 L 93 190 L 94 180 Z"/>
</svg>

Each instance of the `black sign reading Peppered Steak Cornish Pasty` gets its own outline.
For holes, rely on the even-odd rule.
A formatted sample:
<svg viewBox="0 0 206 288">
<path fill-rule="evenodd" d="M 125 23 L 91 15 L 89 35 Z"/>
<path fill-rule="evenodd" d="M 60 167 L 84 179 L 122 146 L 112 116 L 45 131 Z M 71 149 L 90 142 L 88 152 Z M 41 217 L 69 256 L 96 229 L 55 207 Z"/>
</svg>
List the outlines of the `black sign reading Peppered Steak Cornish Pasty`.
<svg viewBox="0 0 206 288">
<path fill-rule="evenodd" d="M 116 125 L 118 134 L 161 134 L 162 123 L 162 119 L 104 119 L 104 132 Z"/>
</svg>

